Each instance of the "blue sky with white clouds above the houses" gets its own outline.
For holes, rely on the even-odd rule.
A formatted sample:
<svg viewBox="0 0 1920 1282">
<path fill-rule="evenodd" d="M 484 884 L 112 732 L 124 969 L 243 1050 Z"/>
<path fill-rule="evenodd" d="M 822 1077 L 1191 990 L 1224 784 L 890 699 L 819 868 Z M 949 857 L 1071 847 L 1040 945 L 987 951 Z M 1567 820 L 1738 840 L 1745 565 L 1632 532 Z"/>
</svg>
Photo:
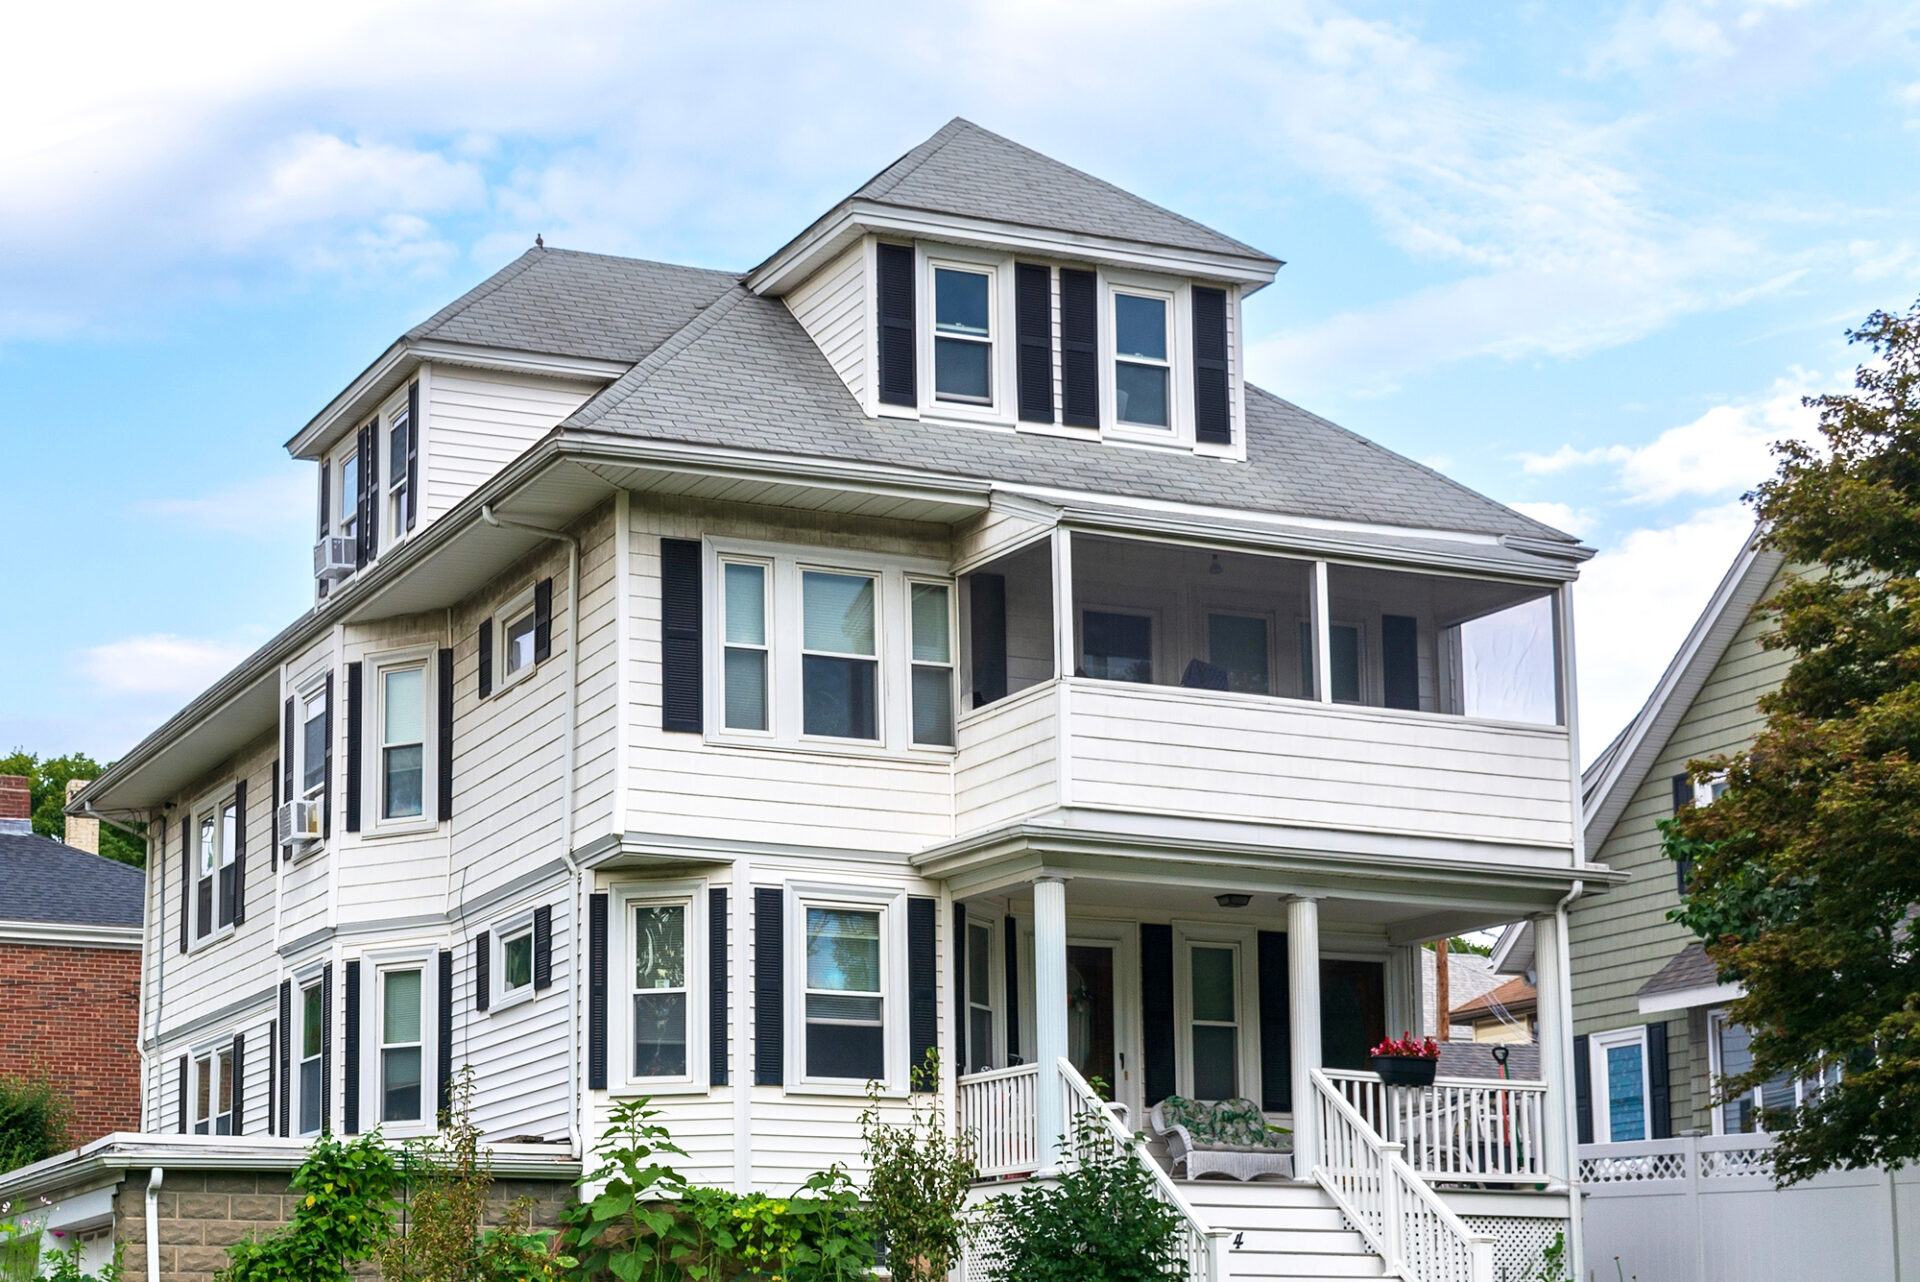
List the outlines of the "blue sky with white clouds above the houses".
<svg viewBox="0 0 1920 1282">
<path fill-rule="evenodd" d="M 25 23 L 25 27 L 21 27 Z M 282 443 L 547 244 L 749 267 L 952 115 L 1283 259 L 1258 382 L 1601 549 L 1588 752 L 1841 332 L 1920 294 L 1920 6 L 33 6 L 0 83 L 0 748 L 309 603 Z"/>
</svg>

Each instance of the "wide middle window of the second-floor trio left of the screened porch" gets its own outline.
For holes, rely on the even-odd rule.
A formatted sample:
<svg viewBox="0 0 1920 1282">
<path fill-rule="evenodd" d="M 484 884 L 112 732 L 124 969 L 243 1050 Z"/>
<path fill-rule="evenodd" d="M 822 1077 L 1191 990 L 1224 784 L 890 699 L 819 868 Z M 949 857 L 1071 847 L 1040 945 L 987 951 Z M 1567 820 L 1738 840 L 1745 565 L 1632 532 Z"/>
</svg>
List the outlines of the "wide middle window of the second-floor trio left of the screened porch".
<svg viewBox="0 0 1920 1282">
<path fill-rule="evenodd" d="M 870 574 L 801 572 L 801 729 L 879 739 L 876 587 Z"/>
</svg>

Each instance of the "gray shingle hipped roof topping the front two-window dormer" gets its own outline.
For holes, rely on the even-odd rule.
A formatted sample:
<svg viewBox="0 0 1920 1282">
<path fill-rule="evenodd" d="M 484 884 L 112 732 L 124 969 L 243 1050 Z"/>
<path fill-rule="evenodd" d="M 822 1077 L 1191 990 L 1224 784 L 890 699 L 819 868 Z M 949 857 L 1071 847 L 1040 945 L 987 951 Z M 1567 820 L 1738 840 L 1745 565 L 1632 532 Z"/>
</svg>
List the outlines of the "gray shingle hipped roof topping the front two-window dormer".
<svg viewBox="0 0 1920 1282">
<path fill-rule="evenodd" d="M 874 175 L 852 200 L 1279 261 L 960 117 Z"/>
</svg>

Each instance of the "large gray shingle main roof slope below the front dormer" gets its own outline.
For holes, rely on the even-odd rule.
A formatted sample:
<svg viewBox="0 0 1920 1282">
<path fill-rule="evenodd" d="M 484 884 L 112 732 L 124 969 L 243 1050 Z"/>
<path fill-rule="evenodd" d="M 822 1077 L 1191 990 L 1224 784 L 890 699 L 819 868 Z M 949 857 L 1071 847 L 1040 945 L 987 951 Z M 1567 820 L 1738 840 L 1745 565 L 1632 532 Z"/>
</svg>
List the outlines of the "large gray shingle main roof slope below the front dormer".
<svg viewBox="0 0 1920 1282">
<path fill-rule="evenodd" d="M 1085 493 L 1572 543 L 1258 388 L 1246 392 L 1246 463 L 868 418 L 781 301 L 735 288 L 563 426 Z"/>
</svg>

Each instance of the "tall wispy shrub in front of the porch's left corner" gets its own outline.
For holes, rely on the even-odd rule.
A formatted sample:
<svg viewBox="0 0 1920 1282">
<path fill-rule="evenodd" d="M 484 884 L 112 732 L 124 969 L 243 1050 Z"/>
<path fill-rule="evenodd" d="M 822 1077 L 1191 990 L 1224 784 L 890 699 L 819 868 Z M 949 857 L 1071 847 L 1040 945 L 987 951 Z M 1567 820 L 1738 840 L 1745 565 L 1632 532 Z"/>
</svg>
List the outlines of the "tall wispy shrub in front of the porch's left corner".
<svg viewBox="0 0 1920 1282">
<path fill-rule="evenodd" d="M 914 1086 L 931 1088 L 939 1079 L 937 1052 L 916 1069 Z M 918 1094 L 904 1123 L 881 1121 L 879 1086 L 868 1086 L 860 1113 L 860 1138 L 870 1169 L 868 1213 L 887 1244 L 887 1265 L 900 1282 L 937 1282 L 960 1255 L 968 1221 L 962 1213 L 968 1188 L 979 1175 L 973 1146 L 947 1132 L 939 1107 L 922 1107 Z"/>
</svg>

